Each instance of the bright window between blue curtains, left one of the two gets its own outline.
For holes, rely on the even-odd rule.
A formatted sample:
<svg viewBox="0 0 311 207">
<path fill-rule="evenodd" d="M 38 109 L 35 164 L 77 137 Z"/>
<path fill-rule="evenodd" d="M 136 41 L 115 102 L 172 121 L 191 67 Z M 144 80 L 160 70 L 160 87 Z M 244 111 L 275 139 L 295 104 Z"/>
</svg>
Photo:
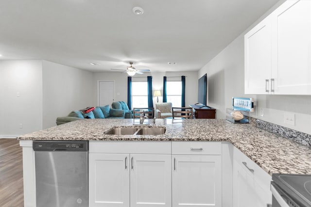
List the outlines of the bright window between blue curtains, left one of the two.
<svg viewBox="0 0 311 207">
<path fill-rule="evenodd" d="M 147 81 L 132 82 L 132 108 L 148 107 Z"/>
</svg>

